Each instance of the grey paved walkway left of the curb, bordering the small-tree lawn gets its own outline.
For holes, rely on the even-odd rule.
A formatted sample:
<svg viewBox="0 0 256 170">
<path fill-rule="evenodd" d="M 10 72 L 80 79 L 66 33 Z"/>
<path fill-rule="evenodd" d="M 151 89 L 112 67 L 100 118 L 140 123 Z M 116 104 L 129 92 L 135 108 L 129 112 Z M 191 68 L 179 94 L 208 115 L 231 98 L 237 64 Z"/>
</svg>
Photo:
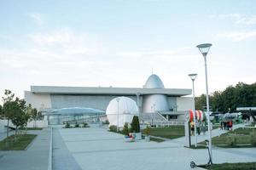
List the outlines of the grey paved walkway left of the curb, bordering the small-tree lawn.
<svg viewBox="0 0 256 170">
<path fill-rule="evenodd" d="M 26 150 L 0 150 L 0 169 L 2 170 L 43 170 L 48 169 L 50 128 L 28 131 L 38 134 Z"/>
</svg>

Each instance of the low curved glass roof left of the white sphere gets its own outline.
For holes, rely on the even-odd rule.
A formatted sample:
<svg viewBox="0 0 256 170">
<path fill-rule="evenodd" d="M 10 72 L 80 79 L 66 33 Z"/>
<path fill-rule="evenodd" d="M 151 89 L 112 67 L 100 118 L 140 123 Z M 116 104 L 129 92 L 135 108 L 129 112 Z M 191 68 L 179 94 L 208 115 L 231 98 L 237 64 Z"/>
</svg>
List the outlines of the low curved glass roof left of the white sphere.
<svg viewBox="0 0 256 170">
<path fill-rule="evenodd" d="M 86 108 L 86 107 L 68 107 L 68 108 L 61 108 L 55 109 L 50 111 L 49 114 L 52 115 L 98 115 L 98 114 L 105 114 L 105 111 Z"/>
</svg>

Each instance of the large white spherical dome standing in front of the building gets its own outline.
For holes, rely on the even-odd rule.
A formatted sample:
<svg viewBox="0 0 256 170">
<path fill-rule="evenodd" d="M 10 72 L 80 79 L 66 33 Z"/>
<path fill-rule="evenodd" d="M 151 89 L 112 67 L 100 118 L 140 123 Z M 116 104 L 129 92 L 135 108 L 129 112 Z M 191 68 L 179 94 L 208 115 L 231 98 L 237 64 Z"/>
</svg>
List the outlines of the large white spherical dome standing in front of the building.
<svg viewBox="0 0 256 170">
<path fill-rule="evenodd" d="M 106 114 L 109 125 L 124 127 L 125 122 L 131 123 L 133 116 L 138 116 L 137 104 L 127 97 L 114 98 L 109 102 Z"/>
</svg>

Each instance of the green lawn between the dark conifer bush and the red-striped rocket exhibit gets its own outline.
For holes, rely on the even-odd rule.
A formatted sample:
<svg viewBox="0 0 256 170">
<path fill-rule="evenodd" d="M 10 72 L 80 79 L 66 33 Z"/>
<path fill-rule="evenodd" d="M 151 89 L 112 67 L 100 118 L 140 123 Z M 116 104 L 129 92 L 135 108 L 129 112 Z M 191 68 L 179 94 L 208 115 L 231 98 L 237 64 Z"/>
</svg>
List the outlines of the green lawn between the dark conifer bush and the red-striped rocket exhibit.
<svg viewBox="0 0 256 170">
<path fill-rule="evenodd" d="M 143 134 L 145 134 L 144 130 L 143 130 Z M 170 127 L 150 128 L 149 135 L 166 138 L 166 139 L 176 139 L 179 137 L 183 137 L 185 135 L 184 126 L 176 125 L 176 126 L 170 126 Z"/>
</svg>

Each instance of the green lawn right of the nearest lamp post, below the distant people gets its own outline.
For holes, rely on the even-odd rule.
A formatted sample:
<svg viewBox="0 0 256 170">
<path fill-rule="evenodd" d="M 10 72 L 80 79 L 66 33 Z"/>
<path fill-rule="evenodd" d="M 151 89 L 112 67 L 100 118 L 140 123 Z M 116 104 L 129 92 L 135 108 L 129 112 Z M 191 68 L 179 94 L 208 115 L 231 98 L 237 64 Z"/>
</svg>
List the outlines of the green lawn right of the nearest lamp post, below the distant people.
<svg viewBox="0 0 256 170">
<path fill-rule="evenodd" d="M 238 128 L 232 132 L 212 138 L 212 144 L 220 147 L 256 147 L 256 145 L 251 145 L 250 133 L 252 132 L 253 129 L 250 128 Z M 231 145 L 230 140 L 234 138 L 236 139 L 236 144 Z M 206 142 L 201 142 L 200 144 L 206 144 Z"/>
</svg>

